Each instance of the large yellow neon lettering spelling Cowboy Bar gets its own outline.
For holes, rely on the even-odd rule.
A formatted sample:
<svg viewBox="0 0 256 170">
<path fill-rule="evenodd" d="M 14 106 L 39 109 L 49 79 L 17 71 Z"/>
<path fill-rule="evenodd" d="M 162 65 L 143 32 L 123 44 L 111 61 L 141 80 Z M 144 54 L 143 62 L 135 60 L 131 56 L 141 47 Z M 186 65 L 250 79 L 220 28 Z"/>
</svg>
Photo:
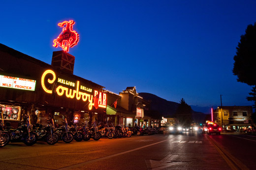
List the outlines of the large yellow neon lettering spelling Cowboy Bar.
<svg viewBox="0 0 256 170">
<path fill-rule="evenodd" d="M 49 84 L 53 84 L 56 80 L 56 74 L 52 71 L 52 70 L 46 70 L 41 77 L 41 85 L 43 90 L 46 93 L 52 94 L 53 91 L 46 88 L 45 86 L 45 77 L 47 74 L 51 74 L 52 75 L 52 79 L 48 78 L 48 83 Z M 59 82 L 59 81 L 57 81 Z M 76 81 L 76 90 L 74 89 L 69 89 L 67 87 L 64 87 L 62 85 L 59 85 L 55 92 L 57 93 L 58 96 L 63 96 L 65 94 L 65 96 L 67 98 L 76 98 L 77 100 L 82 99 L 83 101 L 89 101 L 89 110 L 92 110 L 92 107 L 95 105 L 93 103 L 93 95 L 87 94 L 87 93 L 83 93 L 79 91 L 79 87 L 80 87 L 80 81 Z M 107 95 L 105 93 L 102 92 L 98 92 L 95 90 L 95 96 L 99 93 L 99 99 L 98 99 L 98 107 L 102 107 L 102 108 L 106 108 L 107 107 Z"/>
</svg>

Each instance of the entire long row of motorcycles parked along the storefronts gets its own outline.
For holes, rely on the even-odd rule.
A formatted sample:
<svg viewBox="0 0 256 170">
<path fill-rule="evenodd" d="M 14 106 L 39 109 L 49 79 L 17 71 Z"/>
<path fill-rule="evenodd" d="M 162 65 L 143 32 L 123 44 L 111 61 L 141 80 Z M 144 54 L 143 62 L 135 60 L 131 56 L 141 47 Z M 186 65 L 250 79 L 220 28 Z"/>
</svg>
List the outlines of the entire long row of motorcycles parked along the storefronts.
<svg viewBox="0 0 256 170">
<path fill-rule="evenodd" d="M 68 125 L 66 119 L 63 126 L 55 127 L 53 119 L 49 119 L 48 124 L 44 127 L 37 124 L 33 126 L 30 123 L 30 118 L 25 119 L 17 129 L 6 128 L 4 129 L 3 120 L 0 123 L 0 147 L 6 146 L 9 142 L 23 142 L 27 146 L 34 145 L 37 141 L 45 141 L 49 145 L 56 144 L 59 140 L 65 143 L 70 143 L 73 139 L 77 142 L 82 140 L 88 141 L 91 138 L 94 140 L 99 140 L 101 137 L 121 138 L 121 137 L 131 137 L 131 135 L 152 135 L 158 133 L 156 128 L 141 128 L 135 126 L 134 128 L 114 126 L 111 127 L 108 123 L 98 129 L 96 124 L 92 124 L 91 128 L 87 127 L 85 124 L 82 126 L 77 126 L 76 124 Z"/>
</svg>

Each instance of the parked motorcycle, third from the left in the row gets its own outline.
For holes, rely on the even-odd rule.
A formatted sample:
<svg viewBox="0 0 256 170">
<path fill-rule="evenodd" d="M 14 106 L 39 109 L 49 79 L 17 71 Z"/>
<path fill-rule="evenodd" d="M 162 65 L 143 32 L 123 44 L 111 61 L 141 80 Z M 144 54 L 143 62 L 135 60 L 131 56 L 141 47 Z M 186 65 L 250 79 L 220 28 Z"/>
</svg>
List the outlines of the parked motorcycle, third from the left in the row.
<svg viewBox="0 0 256 170">
<path fill-rule="evenodd" d="M 49 145 L 54 145 L 59 141 L 58 133 L 54 132 L 54 121 L 53 119 L 46 119 L 48 124 L 43 128 L 38 128 L 38 140 L 46 141 Z"/>
</svg>

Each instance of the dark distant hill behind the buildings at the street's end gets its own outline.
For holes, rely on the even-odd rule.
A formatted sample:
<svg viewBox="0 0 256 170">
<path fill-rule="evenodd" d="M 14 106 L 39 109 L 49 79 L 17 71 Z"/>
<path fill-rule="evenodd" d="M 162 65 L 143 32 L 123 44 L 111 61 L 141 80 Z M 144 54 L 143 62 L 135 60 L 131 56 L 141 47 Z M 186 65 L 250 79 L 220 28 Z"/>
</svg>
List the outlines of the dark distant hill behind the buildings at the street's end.
<svg viewBox="0 0 256 170">
<path fill-rule="evenodd" d="M 180 103 L 168 101 L 151 93 L 139 93 L 140 97 L 151 101 L 151 110 L 158 111 L 159 116 L 171 117 L 175 114 Z M 197 106 L 197 108 L 199 108 Z M 210 119 L 209 115 L 202 112 L 192 111 L 192 117 L 194 122 L 204 123 L 205 120 Z"/>
</svg>

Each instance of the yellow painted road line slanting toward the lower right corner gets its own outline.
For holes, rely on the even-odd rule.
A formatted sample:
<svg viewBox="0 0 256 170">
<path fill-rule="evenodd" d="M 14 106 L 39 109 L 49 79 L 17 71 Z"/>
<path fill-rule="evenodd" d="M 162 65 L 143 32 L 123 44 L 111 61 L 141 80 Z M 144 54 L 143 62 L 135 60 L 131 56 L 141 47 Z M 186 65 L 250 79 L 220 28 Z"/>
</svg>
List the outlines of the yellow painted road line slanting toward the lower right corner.
<svg viewBox="0 0 256 170">
<path fill-rule="evenodd" d="M 228 153 L 222 146 L 220 146 L 216 141 L 211 139 L 208 135 L 207 138 L 209 139 L 209 141 L 211 141 L 213 146 L 217 149 L 217 151 L 220 153 L 220 155 L 226 161 L 227 165 L 232 170 L 249 170 L 249 168 L 246 165 L 244 165 L 241 161 L 239 161 L 233 155 Z"/>
</svg>

